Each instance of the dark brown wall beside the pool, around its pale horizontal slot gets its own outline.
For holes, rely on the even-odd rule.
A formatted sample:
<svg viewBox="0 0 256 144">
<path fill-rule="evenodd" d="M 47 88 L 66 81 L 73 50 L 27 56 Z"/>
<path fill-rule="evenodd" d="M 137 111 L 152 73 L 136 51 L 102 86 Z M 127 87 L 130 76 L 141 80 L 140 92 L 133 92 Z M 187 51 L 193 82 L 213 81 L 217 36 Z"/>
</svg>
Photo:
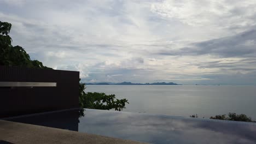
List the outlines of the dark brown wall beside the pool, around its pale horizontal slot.
<svg viewBox="0 0 256 144">
<path fill-rule="evenodd" d="M 56 82 L 56 87 L 0 87 L 0 117 L 78 108 L 79 71 L 0 66 L 0 82 Z"/>
</svg>

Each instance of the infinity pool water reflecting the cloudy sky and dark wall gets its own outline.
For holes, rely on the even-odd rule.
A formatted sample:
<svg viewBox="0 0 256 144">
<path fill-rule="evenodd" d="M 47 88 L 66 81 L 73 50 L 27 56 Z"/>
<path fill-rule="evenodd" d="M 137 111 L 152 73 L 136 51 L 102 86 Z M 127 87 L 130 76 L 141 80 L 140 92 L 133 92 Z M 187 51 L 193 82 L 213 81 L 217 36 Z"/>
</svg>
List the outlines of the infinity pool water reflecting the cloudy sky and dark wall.
<svg viewBox="0 0 256 144">
<path fill-rule="evenodd" d="M 79 123 L 78 123 L 79 119 Z M 150 143 L 256 143 L 256 124 L 86 109 L 11 121 Z"/>
</svg>

